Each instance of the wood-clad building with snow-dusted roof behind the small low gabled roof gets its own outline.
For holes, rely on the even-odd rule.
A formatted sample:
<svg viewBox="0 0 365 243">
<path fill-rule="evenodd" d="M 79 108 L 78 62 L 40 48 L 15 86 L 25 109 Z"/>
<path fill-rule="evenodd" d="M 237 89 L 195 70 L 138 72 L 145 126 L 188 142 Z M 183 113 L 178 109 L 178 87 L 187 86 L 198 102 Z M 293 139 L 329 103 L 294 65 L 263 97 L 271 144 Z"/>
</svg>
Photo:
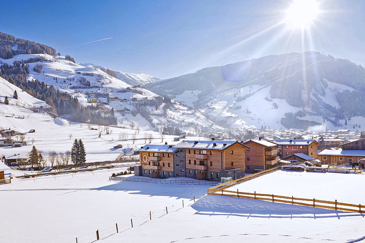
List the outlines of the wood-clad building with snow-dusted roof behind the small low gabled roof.
<svg viewBox="0 0 365 243">
<path fill-rule="evenodd" d="M 304 153 L 311 157 L 317 158 L 317 149 L 319 143 L 314 139 L 277 139 L 273 141 L 279 149 L 279 157 L 283 158 L 295 153 Z"/>
</svg>

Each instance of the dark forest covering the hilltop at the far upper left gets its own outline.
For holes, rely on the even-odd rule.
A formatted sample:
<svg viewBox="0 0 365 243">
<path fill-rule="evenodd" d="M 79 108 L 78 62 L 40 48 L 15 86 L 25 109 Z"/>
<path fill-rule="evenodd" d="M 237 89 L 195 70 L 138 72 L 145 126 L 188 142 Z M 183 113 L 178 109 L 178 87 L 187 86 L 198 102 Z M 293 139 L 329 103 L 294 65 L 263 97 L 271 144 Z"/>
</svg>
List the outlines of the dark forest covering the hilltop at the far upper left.
<svg viewBox="0 0 365 243">
<path fill-rule="evenodd" d="M 11 48 L 12 46 L 17 46 L 17 50 L 13 50 Z M 56 50 L 50 46 L 15 38 L 14 35 L 0 32 L 0 57 L 3 59 L 10 59 L 17 54 L 49 54 L 55 56 Z M 57 55 L 59 55 L 59 53 Z"/>
</svg>

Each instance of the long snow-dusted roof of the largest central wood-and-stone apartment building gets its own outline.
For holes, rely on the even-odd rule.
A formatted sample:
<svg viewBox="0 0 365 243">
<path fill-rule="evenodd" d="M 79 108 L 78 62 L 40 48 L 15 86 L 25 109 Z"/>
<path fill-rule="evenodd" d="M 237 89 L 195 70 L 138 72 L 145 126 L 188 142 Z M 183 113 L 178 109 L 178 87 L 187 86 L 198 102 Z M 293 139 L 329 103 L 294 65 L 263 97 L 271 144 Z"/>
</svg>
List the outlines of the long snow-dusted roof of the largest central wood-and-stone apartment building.
<svg viewBox="0 0 365 243">
<path fill-rule="evenodd" d="M 181 143 L 178 143 L 174 146 L 174 148 L 192 148 L 192 149 L 226 149 L 233 144 L 240 144 L 243 147 L 250 148 L 245 144 L 239 143 L 235 140 L 200 140 L 200 141 L 190 141 L 183 140 Z M 215 145 L 215 146 L 214 146 Z"/>
</svg>

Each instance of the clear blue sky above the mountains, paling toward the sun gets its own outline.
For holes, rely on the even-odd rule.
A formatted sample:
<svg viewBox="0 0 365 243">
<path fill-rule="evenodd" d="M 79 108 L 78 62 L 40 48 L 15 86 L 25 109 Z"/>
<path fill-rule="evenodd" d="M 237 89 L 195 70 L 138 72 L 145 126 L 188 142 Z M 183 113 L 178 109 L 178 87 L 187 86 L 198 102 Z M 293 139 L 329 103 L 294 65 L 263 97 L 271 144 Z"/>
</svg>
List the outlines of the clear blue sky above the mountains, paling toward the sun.
<svg viewBox="0 0 365 243">
<path fill-rule="evenodd" d="M 365 64 L 365 3 L 318 0 L 306 50 Z M 76 62 L 161 78 L 204 67 L 301 52 L 300 30 L 281 24 L 280 1 L 3 1 L 0 31 L 52 46 Z M 113 37 L 104 41 L 77 45 Z"/>
</svg>

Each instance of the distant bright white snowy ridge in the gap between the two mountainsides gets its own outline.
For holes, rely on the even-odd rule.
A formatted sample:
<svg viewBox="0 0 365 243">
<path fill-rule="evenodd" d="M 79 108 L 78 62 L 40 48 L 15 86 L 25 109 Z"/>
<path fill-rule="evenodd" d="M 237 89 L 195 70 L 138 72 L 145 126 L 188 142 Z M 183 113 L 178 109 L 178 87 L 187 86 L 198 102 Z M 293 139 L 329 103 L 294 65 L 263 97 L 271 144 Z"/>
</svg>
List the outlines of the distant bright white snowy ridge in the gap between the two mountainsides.
<svg viewBox="0 0 365 243">
<path fill-rule="evenodd" d="M 105 68 L 103 66 L 100 65 L 95 65 L 92 64 L 90 62 L 88 63 L 79 63 L 80 65 L 84 66 L 84 67 L 89 67 L 89 68 Z M 126 73 L 126 72 L 122 72 L 122 71 L 116 71 L 116 70 L 112 70 L 116 73 L 116 75 L 118 76 L 118 78 L 120 80 L 123 80 L 124 82 L 126 82 L 127 84 L 130 85 L 144 85 L 144 84 L 148 84 L 148 83 L 153 83 L 155 81 L 160 81 L 162 79 L 158 78 L 158 77 L 154 77 L 148 74 L 144 74 L 144 73 L 138 73 L 138 74 L 134 74 L 134 73 Z"/>
</svg>

